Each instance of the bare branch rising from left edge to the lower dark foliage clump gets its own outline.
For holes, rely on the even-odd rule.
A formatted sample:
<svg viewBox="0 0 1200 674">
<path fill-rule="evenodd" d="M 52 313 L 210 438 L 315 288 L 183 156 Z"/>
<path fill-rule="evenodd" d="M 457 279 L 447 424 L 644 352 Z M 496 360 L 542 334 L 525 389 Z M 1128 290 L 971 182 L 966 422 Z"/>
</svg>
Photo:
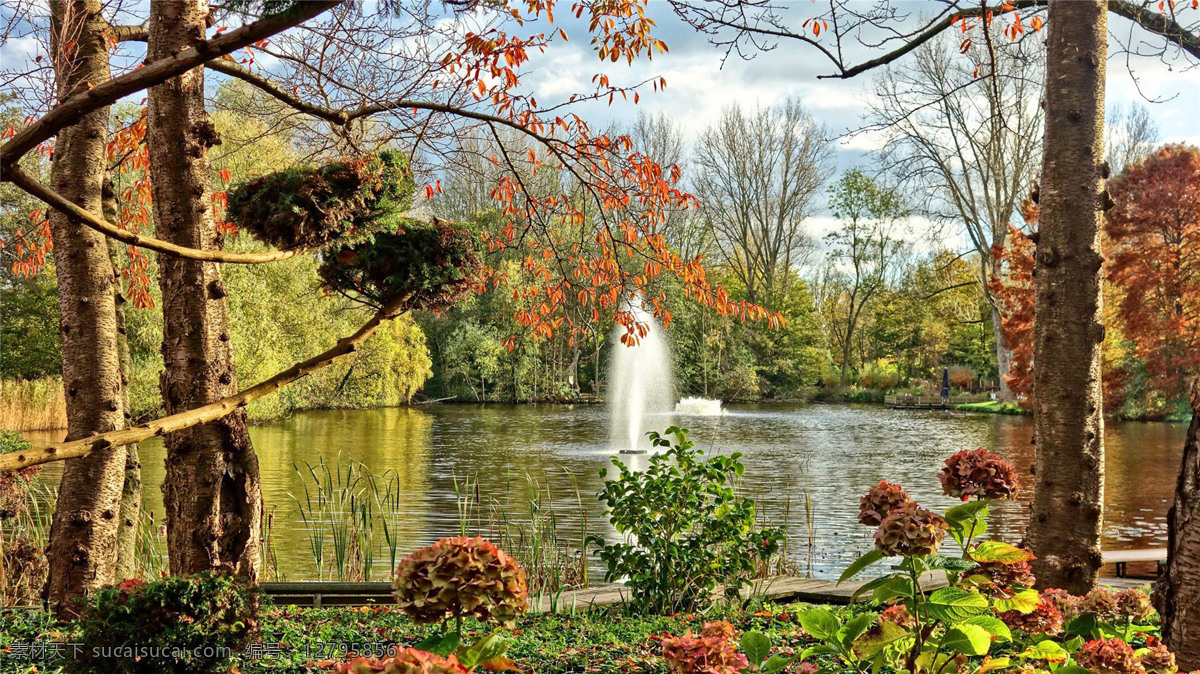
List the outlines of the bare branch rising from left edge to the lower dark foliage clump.
<svg viewBox="0 0 1200 674">
<path fill-rule="evenodd" d="M 155 421 L 149 421 L 146 423 L 139 423 L 132 428 L 110 431 L 108 433 L 100 433 L 79 440 L 58 443 L 40 450 L 0 455 L 0 473 L 19 470 L 22 468 L 38 465 L 42 463 L 78 458 L 108 447 L 140 443 L 142 440 L 148 440 L 156 435 L 166 435 L 167 433 L 174 433 L 185 428 L 199 426 L 200 423 L 216 421 L 217 419 L 244 408 L 268 393 L 277 391 L 286 384 L 290 384 L 306 374 L 326 367 L 343 356 L 356 351 L 362 343 L 379 329 L 380 325 L 403 313 L 410 297 L 412 295 L 404 295 L 388 302 L 354 335 L 343 337 L 336 345 L 334 345 L 334 348 L 304 362 L 296 363 L 283 372 L 280 372 L 275 377 L 251 386 L 250 389 L 239 391 L 215 403 L 209 403 L 196 409 L 156 419 Z"/>
</svg>

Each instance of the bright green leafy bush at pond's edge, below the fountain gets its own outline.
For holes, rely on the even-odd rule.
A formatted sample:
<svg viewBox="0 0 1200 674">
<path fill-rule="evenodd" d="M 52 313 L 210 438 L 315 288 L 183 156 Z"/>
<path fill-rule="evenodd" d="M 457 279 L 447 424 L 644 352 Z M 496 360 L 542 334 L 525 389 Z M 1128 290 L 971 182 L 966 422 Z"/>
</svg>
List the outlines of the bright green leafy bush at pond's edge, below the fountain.
<svg viewBox="0 0 1200 674">
<path fill-rule="evenodd" d="M 784 538 L 782 528 L 757 528 L 755 503 L 737 495 L 733 481 L 745 470 L 740 453 L 706 459 L 686 431 L 672 426 L 666 435 L 674 444 L 650 433 L 666 451 L 652 456 L 644 471 L 613 458 L 619 474 L 599 494 L 608 522 L 628 540 L 588 540 L 600 546 L 606 579 L 628 578 L 635 604 L 658 613 L 703 608 L 719 584 L 737 596 Z"/>
</svg>

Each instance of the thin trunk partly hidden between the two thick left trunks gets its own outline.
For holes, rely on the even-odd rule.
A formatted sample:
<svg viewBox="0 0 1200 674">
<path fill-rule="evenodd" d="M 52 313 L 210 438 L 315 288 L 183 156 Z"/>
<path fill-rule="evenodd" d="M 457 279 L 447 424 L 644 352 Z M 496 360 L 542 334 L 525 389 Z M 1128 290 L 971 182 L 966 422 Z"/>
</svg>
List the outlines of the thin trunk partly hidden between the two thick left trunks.
<svg viewBox="0 0 1200 674">
<path fill-rule="evenodd" d="M 104 179 L 104 217 L 118 222 L 116 193 L 113 181 Z M 108 259 L 113 263 L 113 302 L 116 317 L 116 355 L 121 372 L 121 409 L 125 423 L 130 422 L 130 339 L 125 330 L 125 295 L 121 293 L 121 276 L 115 272 L 115 249 L 109 247 Z M 138 532 L 142 530 L 142 459 L 137 444 L 125 446 L 125 487 L 121 489 L 121 508 L 116 528 L 116 576 L 118 580 L 133 578 L 138 572 Z"/>
</svg>

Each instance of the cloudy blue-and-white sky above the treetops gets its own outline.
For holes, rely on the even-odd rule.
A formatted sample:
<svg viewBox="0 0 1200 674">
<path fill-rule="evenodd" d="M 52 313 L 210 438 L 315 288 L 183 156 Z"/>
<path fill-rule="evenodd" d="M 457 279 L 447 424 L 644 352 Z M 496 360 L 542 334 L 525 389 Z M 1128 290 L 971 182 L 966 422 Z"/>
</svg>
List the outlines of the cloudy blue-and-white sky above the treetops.
<svg viewBox="0 0 1200 674">
<path fill-rule="evenodd" d="M 920 1 L 896 5 L 908 10 L 913 19 L 935 6 Z M 796 18 L 792 20 L 790 17 L 791 25 L 799 26 L 804 12 L 816 13 L 818 8 L 818 5 L 798 0 L 792 6 Z M 556 44 L 535 59 L 535 67 L 528 77 L 539 101 L 587 91 L 590 77 L 598 70 L 625 83 L 659 74 L 667 80 L 665 91 L 643 91 L 636 107 L 630 103 L 614 103 L 612 107 L 592 104 L 584 108 L 584 118 L 593 126 L 602 127 L 610 120 L 626 121 L 638 110 L 662 113 L 682 125 L 689 139 L 694 139 L 720 116 L 725 106 L 772 106 L 796 97 L 838 137 L 834 143 L 839 171 L 856 166 L 870 171 L 871 151 L 878 148 L 878 137 L 853 132 L 864 125 L 874 72 L 850 80 L 818 79 L 817 76 L 833 72 L 830 64 L 811 47 L 786 40 L 769 52 L 754 53 L 750 60 L 737 54 L 725 59 L 722 48 L 712 44 L 707 35 L 678 18 L 664 0 L 649 0 L 649 13 L 658 23 L 656 34 L 666 41 L 670 53 L 629 67 L 600 64 L 587 41 L 580 37 L 587 35 L 587 26 L 568 20 L 565 26 L 571 41 Z M 1132 26 L 1112 14 L 1109 22 L 1112 34 L 1110 52 L 1117 52 L 1117 37 L 1126 38 Z M 858 62 L 877 54 L 858 48 L 847 53 L 847 61 Z M 1150 58 L 1129 59 L 1127 66 L 1124 56 L 1111 56 L 1108 108 L 1145 106 L 1159 127 L 1160 140 L 1200 144 L 1200 67 L 1188 66 L 1183 59 L 1164 62 Z M 1138 84 L 1134 78 L 1138 78 Z M 916 224 L 919 228 L 920 223 Z M 828 213 L 818 209 L 812 221 L 814 229 L 820 233 L 832 225 Z"/>
</svg>

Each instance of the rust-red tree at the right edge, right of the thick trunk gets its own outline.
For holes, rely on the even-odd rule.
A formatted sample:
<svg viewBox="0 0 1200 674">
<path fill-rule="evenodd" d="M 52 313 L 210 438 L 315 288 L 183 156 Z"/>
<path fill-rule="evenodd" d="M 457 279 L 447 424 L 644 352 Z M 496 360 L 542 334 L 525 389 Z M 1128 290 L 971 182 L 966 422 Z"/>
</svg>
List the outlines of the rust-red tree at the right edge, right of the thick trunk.
<svg viewBox="0 0 1200 674">
<path fill-rule="evenodd" d="M 1109 183 L 1109 281 L 1151 389 L 1186 397 L 1200 371 L 1200 150 L 1168 145 Z"/>
</svg>

